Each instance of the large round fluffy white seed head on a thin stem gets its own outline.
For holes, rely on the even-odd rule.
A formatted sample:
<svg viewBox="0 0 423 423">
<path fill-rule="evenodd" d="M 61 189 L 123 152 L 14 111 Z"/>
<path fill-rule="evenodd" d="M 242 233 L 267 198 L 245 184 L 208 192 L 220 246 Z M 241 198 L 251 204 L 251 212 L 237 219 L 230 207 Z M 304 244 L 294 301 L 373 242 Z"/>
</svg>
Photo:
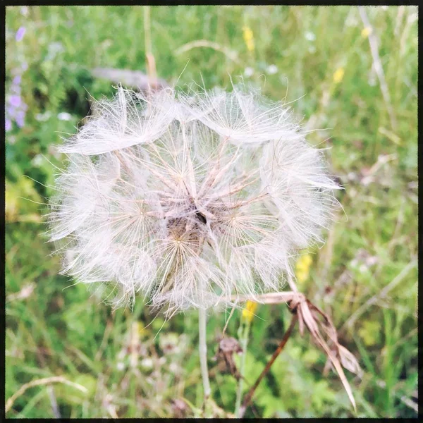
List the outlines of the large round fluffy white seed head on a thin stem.
<svg viewBox="0 0 423 423">
<path fill-rule="evenodd" d="M 116 304 L 205 309 L 278 290 L 338 188 L 282 103 L 259 92 L 118 87 L 61 147 L 51 199 L 63 271 Z"/>
</svg>

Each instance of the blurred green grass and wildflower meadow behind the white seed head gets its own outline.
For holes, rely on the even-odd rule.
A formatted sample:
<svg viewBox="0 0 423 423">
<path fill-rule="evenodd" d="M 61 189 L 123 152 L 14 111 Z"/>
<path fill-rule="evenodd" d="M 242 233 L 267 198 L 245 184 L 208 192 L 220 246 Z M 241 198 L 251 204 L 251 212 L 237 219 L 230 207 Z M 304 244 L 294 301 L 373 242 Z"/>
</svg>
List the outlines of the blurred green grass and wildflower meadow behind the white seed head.
<svg viewBox="0 0 423 423">
<path fill-rule="evenodd" d="M 357 416 L 417 417 L 417 7 L 364 12 L 367 25 L 350 6 L 152 7 L 147 35 L 157 74 L 169 83 L 202 75 L 208 88 L 230 87 L 229 75 L 243 75 L 271 99 L 293 102 L 307 128 L 329 128 L 309 141 L 331 147 L 345 214 L 326 245 L 298 262 L 298 286 L 331 315 L 362 365 L 361 379 L 347 372 Z M 115 84 L 91 70 L 146 73 L 145 44 L 140 6 L 6 9 L 6 399 L 49 376 L 87 389 L 29 388 L 8 417 L 192 417 L 201 405 L 196 313 L 159 332 L 164 320 L 141 301 L 132 313 L 112 312 L 85 286 L 58 276 L 59 259 L 41 235 L 37 202 L 47 201 L 53 164 L 61 166 L 51 146 L 75 132 L 89 94 L 113 93 Z M 283 336 L 286 308 L 257 309 L 250 384 Z M 233 412 L 235 403 L 235 380 L 212 361 L 224 323 L 223 314 L 209 317 L 221 416 L 219 408 Z M 230 336 L 239 324 L 235 312 Z M 341 381 L 322 374 L 325 362 L 295 330 L 247 417 L 352 417 Z M 180 398 L 191 406 L 174 403 Z"/>
</svg>

